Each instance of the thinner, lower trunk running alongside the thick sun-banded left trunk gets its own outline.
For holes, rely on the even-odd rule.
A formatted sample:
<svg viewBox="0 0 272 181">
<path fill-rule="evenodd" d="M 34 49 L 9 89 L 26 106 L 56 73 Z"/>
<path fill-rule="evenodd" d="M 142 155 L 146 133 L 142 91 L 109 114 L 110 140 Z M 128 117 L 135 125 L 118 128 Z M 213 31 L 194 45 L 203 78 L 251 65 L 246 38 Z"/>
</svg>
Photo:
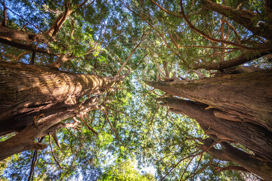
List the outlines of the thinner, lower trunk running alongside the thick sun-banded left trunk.
<svg viewBox="0 0 272 181">
<path fill-rule="evenodd" d="M 42 117 L 39 120 L 33 120 L 31 125 L 19 132 L 17 135 L 9 138 L 6 141 L 0 142 L 0 160 L 3 160 L 13 154 L 20 153 L 26 150 L 36 150 L 46 148 L 46 144 L 37 143 L 35 139 L 48 134 L 53 134 L 59 128 L 73 127 L 79 123 L 60 123 L 62 120 L 70 117 L 78 117 L 85 114 L 90 109 L 98 105 L 98 98 L 92 98 L 82 104 L 69 105 L 68 110 L 55 109 L 55 113 Z"/>
</svg>

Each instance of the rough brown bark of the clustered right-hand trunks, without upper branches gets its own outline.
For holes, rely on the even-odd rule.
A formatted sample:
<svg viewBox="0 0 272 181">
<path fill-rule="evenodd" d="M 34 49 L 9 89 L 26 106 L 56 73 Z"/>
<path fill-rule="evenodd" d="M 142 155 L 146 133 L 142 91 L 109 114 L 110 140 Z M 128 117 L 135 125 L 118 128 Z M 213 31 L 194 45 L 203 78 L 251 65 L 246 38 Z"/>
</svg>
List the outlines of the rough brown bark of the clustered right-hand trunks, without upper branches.
<svg viewBox="0 0 272 181">
<path fill-rule="evenodd" d="M 214 141 L 223 140 L 221 149 L 212 147 L 208 152 L 217 159 L 236 162 L 244 170 L 272 180 L 272 71 L 251 68 L 229 71 L 245 73 L 147 84 L 169 95 L 192 100 L 158 99 L 163 102 L 161 106 L 199 123 L 210 137 L 205 139 L 209 142 L 202 142 L 201 149 L 209 148 Z M 242 144 L 254 155 L 228 142 Z"/>
</svg>

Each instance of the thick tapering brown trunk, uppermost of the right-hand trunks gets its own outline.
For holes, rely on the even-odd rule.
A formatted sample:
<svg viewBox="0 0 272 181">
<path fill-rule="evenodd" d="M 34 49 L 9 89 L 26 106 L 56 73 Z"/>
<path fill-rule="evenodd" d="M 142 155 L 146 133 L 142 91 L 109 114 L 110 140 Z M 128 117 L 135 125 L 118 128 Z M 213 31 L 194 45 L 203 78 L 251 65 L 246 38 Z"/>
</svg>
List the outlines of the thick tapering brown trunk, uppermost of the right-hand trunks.
<svg viewBox="0 0 272 181">
<path fill-rule="evenodd" d="M 221 115 L 228 115 L 225 119 L 237 118 L 272 130 L 272 70 L 147 84 L 221 110 Z"/>
</svg>

